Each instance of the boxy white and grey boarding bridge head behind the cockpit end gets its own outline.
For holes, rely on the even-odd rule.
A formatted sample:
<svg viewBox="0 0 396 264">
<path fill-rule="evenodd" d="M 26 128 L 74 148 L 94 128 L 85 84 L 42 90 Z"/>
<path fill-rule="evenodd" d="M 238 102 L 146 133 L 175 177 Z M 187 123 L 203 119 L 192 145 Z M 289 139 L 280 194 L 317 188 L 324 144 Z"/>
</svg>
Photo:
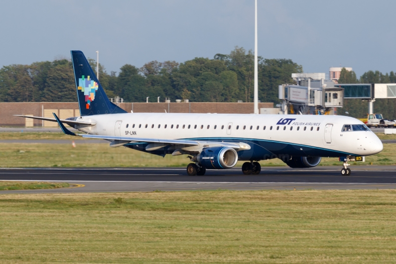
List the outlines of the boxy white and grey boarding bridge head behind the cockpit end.
<svg viewBox="0 0 396 264">
<path fill-rule="evenodd" d="M 296 84 L 279 85 L 279 99 L 283 114 L 316 115 L 334 114 L 344 105 L 344 88 L 335 87 L 332 80 L 323 79 L 324 74 L 292 74 Z M 321 78 L 315 80 L 314 78 Z"/>
</svg>

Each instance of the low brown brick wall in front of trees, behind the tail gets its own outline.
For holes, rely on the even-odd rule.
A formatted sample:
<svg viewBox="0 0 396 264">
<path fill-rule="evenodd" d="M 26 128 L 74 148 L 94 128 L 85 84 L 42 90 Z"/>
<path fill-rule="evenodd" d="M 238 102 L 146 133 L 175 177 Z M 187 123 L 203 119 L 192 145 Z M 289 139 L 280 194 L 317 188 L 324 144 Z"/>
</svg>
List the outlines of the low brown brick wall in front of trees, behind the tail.
<svg viewBox="0 0 396 264">
<path fill-rule="evenodd" d="M 164 113 L 165 110 L 168 113 L 253 113 L 253 103 L 122 103 L 120 107 L 128 113 Z M 273 108 L 273 103 L 259 103 L 260 108 Z M 41 117 L 44 114 L 45 117 L 53 118 L 52 111 L 61 119 L 67 118 L 62 115 L 79 115 L 78 103 L 0 103 L 0 126 L 24 127 L 25 119 L 12 115 Z M 42 124 L 41 120 L 33 120 L 35 127 L 41 127 Z M 51 122 L 45 123 L 45 126 L 51 125 Z"/>
</svg>

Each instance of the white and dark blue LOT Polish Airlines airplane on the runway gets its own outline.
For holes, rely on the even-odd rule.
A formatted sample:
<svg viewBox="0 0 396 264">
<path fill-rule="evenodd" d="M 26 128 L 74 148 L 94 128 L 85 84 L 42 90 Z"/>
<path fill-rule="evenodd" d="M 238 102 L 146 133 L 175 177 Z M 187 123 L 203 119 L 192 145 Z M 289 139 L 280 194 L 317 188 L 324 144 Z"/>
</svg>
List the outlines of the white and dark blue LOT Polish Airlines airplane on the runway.
<svg viewBox="0 0 396 264">
<path fill-rule="evenodd" d="M 80 116 L 15 116 L 57 122 L 66 134 L 105 139 L 110 147 L 159 156 L 187 154 L 190 176 L 229 169 L 239 160 L 246 161 L 244 174 L 259 174 L 259 161 L 273 158 L 291 168 L 310 168 L 321 157 L 338 157 L 344 161 L 341 175 L 350 175 L 349 161 L 383 150 L 363 122 L 345 116 L 127 113 L 110 102 L 83 52 L 72 50 L 71 57 Z"/>
</svg>

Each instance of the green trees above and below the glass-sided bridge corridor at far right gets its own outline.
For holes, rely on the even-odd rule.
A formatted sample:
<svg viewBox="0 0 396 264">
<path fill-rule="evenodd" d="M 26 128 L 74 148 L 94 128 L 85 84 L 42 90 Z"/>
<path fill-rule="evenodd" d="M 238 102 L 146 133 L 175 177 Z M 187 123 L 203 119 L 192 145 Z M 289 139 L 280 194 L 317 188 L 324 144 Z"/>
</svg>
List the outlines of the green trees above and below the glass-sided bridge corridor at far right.
<svg viewBox="0 0 396 264">
<path fill-rule="evenodd" d="M 393 71 L 389 74 L 383 74 L 380 71 L 368 71 L 358 79 L 354 71 L 347 71 L 345 68 L 342 68 L 338 83 L 396 83 L 396 74 Z M 367 116 L 369 109 L 368 105 L 369 103 L 367 101 L 362 101 L 360 99 L 345 99 L 343 109 L 338 110 L 337 114 L 363 118 Z M 383 114 L 384 118 L 387 119 L 396 119 L 395 99 L 376 99 L 373 105 L 374 113 Z"/>
</svg>

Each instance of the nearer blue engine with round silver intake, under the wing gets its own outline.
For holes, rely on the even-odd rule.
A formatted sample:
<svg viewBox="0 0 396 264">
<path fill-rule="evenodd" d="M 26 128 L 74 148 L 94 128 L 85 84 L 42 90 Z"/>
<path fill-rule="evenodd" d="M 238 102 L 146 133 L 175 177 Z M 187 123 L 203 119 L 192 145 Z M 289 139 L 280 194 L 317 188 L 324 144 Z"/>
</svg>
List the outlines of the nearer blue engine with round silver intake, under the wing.
<svg viewBox="0 0 396 264">
<path fill-rule="evenodd" d="M 232 147 L 209 147 L 197 156 L 197 161 L 207 169 L 229 169 L 238 161 L 238 154 Z"/>
</svg>

